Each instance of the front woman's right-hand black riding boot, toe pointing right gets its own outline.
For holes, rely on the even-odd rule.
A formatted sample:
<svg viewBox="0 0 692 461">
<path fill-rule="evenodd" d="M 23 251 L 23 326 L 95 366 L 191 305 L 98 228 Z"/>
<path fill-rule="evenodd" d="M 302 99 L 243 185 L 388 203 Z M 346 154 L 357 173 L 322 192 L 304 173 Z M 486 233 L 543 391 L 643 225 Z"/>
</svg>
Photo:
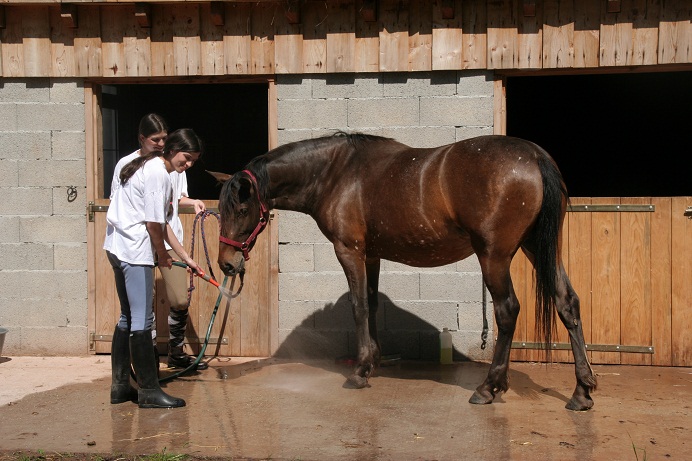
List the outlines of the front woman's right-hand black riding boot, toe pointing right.
<svg viewBox="0 0 692 461">
<path fill-rule="evenodd" d="M 139 385 L 138 399 L 140 408 L 176 408 L 184 407 L 185 400 L 166 394 L 159 385 L 158 370 L 151 357 L 154 345 L 151 342 L 151 331 L 134 331 L 130 336 L 132 366 L 137 374 Z"/>
</svg>

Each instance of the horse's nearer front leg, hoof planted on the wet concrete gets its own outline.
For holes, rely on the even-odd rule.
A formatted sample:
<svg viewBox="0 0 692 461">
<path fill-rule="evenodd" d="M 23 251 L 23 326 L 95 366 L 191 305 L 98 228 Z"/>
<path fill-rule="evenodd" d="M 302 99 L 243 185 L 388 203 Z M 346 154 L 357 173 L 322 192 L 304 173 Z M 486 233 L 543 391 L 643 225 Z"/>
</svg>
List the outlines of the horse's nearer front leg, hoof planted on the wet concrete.
<svg viewBox="0 0 692 461">
<path fill-rule="evenodd" d="M 368 306 L 365 255 L 357 249 L 352 249 L 339 243 L 334 244 L 334 250 L 348 280 L 353 319 L 356 322 L 358 363 L 353 370 L 353 374 L 348 377 L 348 380 L 355 387 L 363 388 L 368 385 L 368 377 L 375 370 L 376 357 L 379 357 L 377 342 L 376 340 L 373 341 L 370 333 L 370 309 Z"/>
</svg>

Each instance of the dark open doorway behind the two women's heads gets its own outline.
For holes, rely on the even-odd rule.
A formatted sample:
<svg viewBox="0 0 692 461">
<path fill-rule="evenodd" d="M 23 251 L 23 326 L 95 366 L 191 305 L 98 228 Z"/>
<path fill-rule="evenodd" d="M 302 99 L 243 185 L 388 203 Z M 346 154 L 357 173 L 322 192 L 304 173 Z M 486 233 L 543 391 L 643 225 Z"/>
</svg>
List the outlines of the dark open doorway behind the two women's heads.
<svg viewBox="0 0 692 461">
<path fill-rule="evenodd" d="M 192 128 L 204 142 L 187 171 L 190 197 L 216 200 L 219 186 L 205 170 L 233 173 L 268 150 L 268 83 L 103 85 L 104 191 L 117 161 L 139 148 L 139 120 L 164 117 L 171 131 Z"/>
</svg>

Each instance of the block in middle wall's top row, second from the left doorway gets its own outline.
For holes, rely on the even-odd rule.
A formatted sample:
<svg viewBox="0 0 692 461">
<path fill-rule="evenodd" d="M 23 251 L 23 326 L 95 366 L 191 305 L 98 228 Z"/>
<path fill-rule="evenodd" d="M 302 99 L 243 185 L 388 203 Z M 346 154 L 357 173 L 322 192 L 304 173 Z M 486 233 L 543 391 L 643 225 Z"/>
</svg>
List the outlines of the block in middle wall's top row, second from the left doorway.
<svg viewBox="0 0 692 461">
<path fill-rule="evenodd" d="M 312 78 L 313 98 L 381 98 L 383 95 L 384 85 L 377 74 L 328 74 Z"/>
</svg>

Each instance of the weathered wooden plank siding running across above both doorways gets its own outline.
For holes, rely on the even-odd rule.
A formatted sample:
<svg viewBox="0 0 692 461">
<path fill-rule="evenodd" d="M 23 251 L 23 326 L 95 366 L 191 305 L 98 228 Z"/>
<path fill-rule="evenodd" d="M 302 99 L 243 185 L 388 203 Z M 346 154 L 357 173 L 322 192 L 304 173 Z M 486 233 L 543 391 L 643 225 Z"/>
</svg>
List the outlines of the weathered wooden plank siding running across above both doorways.
<svg viewBox="0 0 692 461">
<path fill-rule="evenodd" d="M 72 3 L 72 2 L 71 2 Z M 692 63 L 687 0 L 3 2 L 4 77 L 559 69 Z M 213 7 L 212 7 L 213 5 Z M 374 9 L 373 9 L 374 5 Z"/>
</svg>

